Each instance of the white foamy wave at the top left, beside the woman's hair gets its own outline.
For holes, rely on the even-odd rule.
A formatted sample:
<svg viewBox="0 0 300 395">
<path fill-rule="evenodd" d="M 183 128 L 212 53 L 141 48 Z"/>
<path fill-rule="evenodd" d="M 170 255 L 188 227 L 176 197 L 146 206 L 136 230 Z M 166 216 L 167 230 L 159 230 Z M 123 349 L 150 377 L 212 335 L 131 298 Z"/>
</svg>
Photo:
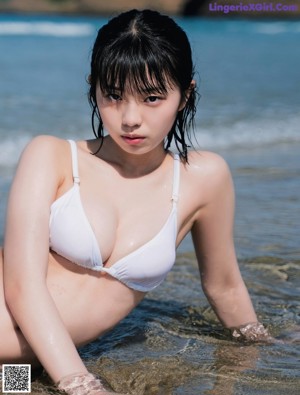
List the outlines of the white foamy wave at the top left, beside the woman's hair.
<svg viewBox="0 0 300 395">
<path fill-rule="evenodd" d="M 0 22 L 0 35 L 37 35 L 54 37 L 84 37 L 95 32 L 88 23 L 57 23 L 57 22 Z"/>
</svg>

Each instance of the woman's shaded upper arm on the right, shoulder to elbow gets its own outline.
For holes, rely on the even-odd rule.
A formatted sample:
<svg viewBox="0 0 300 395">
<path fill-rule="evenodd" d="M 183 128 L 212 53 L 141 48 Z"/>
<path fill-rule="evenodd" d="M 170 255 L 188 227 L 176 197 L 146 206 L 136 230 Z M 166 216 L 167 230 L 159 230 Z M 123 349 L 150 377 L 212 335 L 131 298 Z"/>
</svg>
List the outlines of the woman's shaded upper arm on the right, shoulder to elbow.
<svg viewBox="0 0 300 395">
<path fill-rule="evenodd" d="M 206 292 L 240 282 L 233 242 L 234 187 L 226 162 L 218 155 L 206 160 L 205 201 L 192 226 L 192 237 Z"/>
</svg>

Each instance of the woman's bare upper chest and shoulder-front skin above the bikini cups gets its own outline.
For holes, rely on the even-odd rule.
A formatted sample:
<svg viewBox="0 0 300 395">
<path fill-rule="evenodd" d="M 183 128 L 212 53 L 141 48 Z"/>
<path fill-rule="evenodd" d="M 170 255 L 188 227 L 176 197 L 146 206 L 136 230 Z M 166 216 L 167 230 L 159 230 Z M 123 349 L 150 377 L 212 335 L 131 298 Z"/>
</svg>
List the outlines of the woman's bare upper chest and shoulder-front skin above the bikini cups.
<svg viewBox="0 0 300 395">
<path fill-rule="evenodd" d="M 64 182 L 54 200 L 73 186 L 70 148 L 67 142 L 64 144 Z M 91 147 L 86 141 L 78 142 L 77 147 L 82 204 L 99 242 L 103 261 L 110 266 L 145 244 L 168 218 L 172 210 L 173 157 L 167 154 L 161 166 L 151 174 L 126 178 L 113 165 L 91 155 L 90 152 L 99 147 L 98 141 L 93 141 Z M 195 160 L 205 162 L 205 157 L 191 152 L 190 158 L 190 164 L 181 164 L 180 169 L 177 245 L 190 230 L 193 214 L 201 202 L 205 202 L 205 191 L 199 194 L 197 185 L 202 183 L 200 177 L 205 177 L 205 168 L 201 170 L 198 163 L 194 164 Z"/>
</svg>

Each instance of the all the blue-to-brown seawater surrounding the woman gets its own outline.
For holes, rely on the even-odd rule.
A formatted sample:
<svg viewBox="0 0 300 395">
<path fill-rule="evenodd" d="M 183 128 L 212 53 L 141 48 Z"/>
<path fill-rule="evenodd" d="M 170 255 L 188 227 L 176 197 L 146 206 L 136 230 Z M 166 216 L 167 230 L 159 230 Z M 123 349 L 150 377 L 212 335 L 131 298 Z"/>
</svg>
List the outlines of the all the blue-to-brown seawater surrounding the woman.
<svg viewBox="0 0 300 395">
<path fill-rule="evenodd" d="M 105 18 L 0 16 L 0 243 L 7 194 L 38 134 L 91 138 L 86 77 Z M 261 321 L 283 343 L 237 344 L 200 287 L 187 237 L 167 281 L 104 338 L 81 349 L 131 394 L 299 393 L 300 22 L 178 19 L 201 99 L 194 145 L 228 161 L 235 243 Z M 55 393 L 46 376 L 33 393 Z"/>
</svg>

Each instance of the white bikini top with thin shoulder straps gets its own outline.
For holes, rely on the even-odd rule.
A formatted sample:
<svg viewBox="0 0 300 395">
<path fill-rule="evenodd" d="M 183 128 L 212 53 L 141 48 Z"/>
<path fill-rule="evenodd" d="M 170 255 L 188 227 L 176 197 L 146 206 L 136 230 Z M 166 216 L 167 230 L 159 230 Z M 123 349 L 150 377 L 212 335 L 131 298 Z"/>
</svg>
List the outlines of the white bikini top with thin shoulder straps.
<svg viewBox="0 0 300 395">
<path fill-rule="evenodd" d="M 161 230 L 144 245 L 110 267 L 103 265 L 101 252 L 80 197 L 77 146 L 72 140 L 74 184 L 51 205 L 50 249 L 82 267 L 108 273 L 129 288 L 147 292 L 156 288 L 172 269 L 176 257 L 177 200 L 180 160 L 174 154 L 173 206 Z"/>
</svg>

